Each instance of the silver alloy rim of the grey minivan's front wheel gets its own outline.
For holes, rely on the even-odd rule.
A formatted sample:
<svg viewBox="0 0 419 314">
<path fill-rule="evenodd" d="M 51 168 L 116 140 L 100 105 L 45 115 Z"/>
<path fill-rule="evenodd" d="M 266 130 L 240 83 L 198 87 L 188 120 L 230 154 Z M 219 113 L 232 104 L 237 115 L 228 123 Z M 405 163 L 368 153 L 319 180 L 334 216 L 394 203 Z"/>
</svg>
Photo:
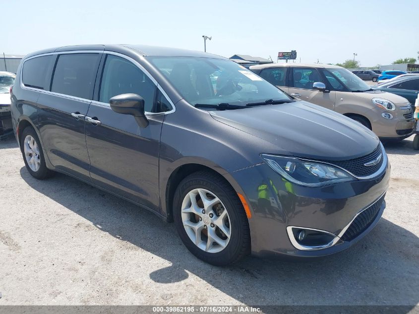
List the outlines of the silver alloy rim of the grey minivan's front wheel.
<svg viewBox="0 0 419 314">
<path fill-rule="evenodd" d="M 223 251 L 231 237 L 230 217 L 221 200 L 211 191 L 195 188 L 182 202 L 183 228 L 189 239 L 202 251 Z"/>
</svg>

